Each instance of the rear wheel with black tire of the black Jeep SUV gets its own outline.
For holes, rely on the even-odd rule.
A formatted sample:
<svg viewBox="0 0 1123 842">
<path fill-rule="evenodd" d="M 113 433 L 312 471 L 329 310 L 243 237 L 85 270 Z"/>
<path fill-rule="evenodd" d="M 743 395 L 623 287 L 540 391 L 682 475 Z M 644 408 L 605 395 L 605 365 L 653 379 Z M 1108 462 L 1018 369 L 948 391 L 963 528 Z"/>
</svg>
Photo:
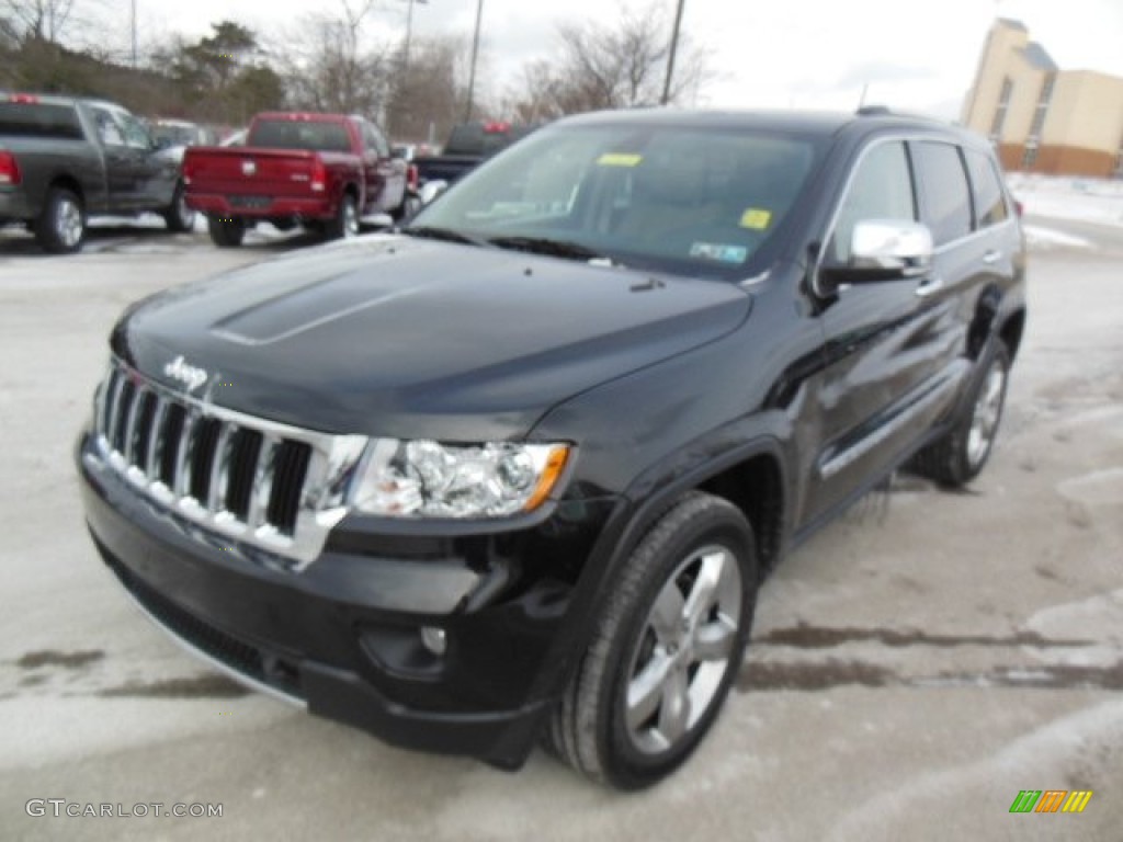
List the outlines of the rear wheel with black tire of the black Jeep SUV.
<svg viewBox="0 0 1123 842">
<path fill-rule="evenodd" d="M 909 468 L 942 486 L 958 488 L 979 475 L 998 434 L 1006 403 L 1010 351 L 1001 340 L 979 360 L 980 376 L 960 419 L 942 438 L 912 458 Z"/>
</svg>

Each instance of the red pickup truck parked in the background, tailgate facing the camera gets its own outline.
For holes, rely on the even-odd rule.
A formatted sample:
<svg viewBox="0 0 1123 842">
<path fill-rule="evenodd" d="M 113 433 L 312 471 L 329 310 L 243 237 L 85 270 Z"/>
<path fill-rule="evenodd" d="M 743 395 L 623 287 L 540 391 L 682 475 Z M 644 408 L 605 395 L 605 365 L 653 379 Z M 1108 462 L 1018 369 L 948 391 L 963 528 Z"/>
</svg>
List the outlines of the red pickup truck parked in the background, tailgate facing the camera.
<svg viewBox="0 0 1123 842">
<path fill-rule="evenodd" d="M 263 221 L 339 238 L 358 234 L 364 217 L 401 219 L 417 202 L 408 167 L 362 117 L 266 112 L 245 146 L 189 148 L 183 183 L 188 207 L 207 216 L 217 246 L 230 248 Z"/>
</svg>

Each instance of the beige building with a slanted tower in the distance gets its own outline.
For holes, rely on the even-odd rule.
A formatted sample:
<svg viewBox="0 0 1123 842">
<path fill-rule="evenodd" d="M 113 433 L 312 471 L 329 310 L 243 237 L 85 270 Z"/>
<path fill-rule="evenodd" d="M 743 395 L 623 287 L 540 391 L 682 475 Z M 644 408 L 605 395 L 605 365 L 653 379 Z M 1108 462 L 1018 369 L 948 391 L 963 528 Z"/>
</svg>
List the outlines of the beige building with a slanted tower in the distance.
<svg viewBox="0 0 1123 842">
<path fill-rule="evenodd" d="M 962 121 L 1008 171 L 1123 177 L 1123 79 L 1060 70 L 1016 20 L 990 28 Z"/>
</svg>

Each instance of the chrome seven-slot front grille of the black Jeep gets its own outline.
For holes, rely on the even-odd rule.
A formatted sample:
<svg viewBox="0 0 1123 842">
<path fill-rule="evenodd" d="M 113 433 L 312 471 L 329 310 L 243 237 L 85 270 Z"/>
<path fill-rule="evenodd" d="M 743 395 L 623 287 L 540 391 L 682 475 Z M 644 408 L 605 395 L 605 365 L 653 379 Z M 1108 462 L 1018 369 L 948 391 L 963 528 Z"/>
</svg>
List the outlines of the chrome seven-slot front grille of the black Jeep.
<svg viewBox="0 0 1123 842">
<path fill-rule="evenodd" d="M 98 390 L 94 452 L 149 498 L 303 569 L 346 514 L 365 436 L 245 415 L 113 360 Z"/>
</svg>

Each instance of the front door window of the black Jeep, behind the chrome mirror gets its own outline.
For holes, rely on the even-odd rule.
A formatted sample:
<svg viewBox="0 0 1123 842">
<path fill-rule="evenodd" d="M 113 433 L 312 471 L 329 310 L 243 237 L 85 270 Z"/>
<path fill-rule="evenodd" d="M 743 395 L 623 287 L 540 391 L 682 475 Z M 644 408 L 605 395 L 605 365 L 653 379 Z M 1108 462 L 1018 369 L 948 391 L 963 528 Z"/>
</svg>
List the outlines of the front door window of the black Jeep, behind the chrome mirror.
<svg viewBox="0 0 1123 842">
<path fill-rule="evenodd" d="M 868 219 L 916 219 L 912 174 L 903 143 L 873 146 L 858 162 L 839 207 L 828 254 L 846 263 L 855 225 Z"/>
</svg>

